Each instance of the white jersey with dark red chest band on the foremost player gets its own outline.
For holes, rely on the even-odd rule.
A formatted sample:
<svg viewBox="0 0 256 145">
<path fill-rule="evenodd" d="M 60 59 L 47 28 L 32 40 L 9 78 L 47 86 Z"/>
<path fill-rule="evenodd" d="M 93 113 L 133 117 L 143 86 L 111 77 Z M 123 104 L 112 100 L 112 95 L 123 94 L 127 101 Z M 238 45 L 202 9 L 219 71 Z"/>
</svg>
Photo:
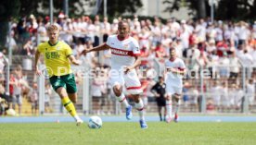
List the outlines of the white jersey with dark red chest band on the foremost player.
<svg viewBox="0 0 256 145">
<path fill-rule="evenodd" d="M 140 54 L 139 44 L 133 37 L 120 41 L 117 35 L 108 38 L 107 45 L 111 50 L 111 68 L 120 70 L 122 66 L 132 66 L 135 55 Z"/>
</svg>

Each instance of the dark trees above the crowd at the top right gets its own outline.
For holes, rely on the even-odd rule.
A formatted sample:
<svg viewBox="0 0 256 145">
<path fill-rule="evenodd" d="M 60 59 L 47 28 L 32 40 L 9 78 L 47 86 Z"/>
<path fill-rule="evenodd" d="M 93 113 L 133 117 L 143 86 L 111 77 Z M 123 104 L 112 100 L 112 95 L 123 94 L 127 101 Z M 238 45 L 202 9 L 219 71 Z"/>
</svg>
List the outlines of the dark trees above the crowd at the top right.
<svg viewBox="0 0 256 145">
<path fill-rule="evenodd" d="M 217 2 L 215 9 L 215 18 L 218 19 L 255 19 L 256 18 L 256 0 L 214 0 Z M 211 16 L 210 0 L 165 0 L 168 4 L 166 12 L 178 10 L 181 6 L 189 8 L 190 15 L 196 12 L 195 18 L 206 18 Z"/>
</svg>

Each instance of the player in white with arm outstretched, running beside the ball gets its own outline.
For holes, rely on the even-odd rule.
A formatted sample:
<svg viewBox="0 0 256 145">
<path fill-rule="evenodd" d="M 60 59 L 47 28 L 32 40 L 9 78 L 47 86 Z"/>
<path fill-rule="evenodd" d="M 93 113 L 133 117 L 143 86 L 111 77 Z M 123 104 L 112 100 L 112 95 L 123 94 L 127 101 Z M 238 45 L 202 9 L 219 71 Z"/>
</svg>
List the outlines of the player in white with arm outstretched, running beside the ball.
<svg viewBox="0 0 256 145">
<path fill-rule="evenodd" d="M 130 26 L 127 21 L 120 21 L 118 24 L 118 34 L 111 35 L 106 43 L 96 46 L 92 49 L 84 51 L 84 54 L 93 51 L 103 51 L 110 49 L 111 51 L 111 73 L 110 79 L 113 91 L 117 100 L 124 104 L 126 108 L 126 118 L 132 118 L 132 106 L 127 102 L 122 90 L 126 87 L 126 91 L 131 94 L 134 100 L 134 107 L 139 113 L 139 123 L 141 128 L 147 128 L 144 117 L 144 104 L 140 98 L 142 93 L 141 84 L 138 79 L 135 67 L 140 65 L 140 49 L 138 42 L 129 36 Z"/>
</svg>

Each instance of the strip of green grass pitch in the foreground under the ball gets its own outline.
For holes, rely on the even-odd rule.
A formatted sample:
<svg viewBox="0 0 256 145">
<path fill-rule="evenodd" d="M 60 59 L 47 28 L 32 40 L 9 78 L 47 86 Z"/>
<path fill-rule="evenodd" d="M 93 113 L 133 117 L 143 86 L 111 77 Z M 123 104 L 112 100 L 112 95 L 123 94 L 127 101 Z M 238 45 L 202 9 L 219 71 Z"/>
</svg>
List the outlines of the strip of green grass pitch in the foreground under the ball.
<svg viewBox="0 0 256 145">
<path fill-rule="evenodd" d="M 0 145 L 255 145 L 256 123 L 0 124 Z"/>
</svg>

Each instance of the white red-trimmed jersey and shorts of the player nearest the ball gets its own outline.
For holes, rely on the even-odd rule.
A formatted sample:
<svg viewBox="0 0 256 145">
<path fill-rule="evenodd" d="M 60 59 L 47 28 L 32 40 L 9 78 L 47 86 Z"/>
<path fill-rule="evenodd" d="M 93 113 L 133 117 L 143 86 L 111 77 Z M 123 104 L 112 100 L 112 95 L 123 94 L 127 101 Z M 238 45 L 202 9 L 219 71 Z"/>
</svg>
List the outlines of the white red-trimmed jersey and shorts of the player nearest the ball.
<svg viewBox="0 0 256 145">
<path fill-rule="evenodd" d="M 130 94 L 142 93 L 141 83 L 136 70 L 132 69 L 127 74 L 123 74 L 123 66 L 133 66 L 135 55 L 140 55 L 138 42 L 133 37 L 128 37 L 120 41 L 117 35 L 109 36 L 107 45 L 111 50 L 111 72 L 110 81 L 112 86 L 121 84 L 125 86 Z"/>
</svg>

